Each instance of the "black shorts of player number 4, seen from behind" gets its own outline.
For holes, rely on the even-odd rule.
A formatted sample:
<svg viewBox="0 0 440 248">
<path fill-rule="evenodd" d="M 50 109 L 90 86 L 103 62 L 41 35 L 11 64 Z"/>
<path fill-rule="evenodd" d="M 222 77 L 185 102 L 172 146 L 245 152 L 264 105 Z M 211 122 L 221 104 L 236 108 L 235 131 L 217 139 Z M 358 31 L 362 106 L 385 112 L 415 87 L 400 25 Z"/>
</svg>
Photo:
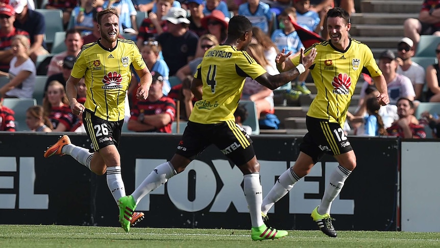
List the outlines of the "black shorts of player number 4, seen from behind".
<svg viewBox="0 0 440 248">
<path fill-rule="evenodd" d="M 234 121 L 200 124 L 188 121 L 176 153 L 189 160 L 214 144 L 235 165 L 241 166 L 255 156 L 252 140 Z"/>
</svg>

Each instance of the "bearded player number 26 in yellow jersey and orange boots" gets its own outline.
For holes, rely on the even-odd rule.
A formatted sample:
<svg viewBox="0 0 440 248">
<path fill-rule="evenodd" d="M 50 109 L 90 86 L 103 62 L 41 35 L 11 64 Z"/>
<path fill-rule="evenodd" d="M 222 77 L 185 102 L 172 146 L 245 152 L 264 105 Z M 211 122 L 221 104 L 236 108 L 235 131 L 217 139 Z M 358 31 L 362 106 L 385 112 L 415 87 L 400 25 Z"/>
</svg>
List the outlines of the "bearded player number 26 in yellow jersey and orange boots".
<svg viewBox="0 0 440 248">
<path fill-rule="evenodd" d="M 96 19 L 101 39 L 82 48 L 66 83 L 70 108 L 73 114 L 83 116 L 92 153 L 71 144 L 65 135 L 44 152 L 44 157 L 68 154 L 97 175 L 107 172 L 107 185 L 117 203 L 126 195 L 117 147 L 124 123 L 124 100 L 131 80 L 130 65 L 140 77 L 138 99 L 148 97 L 152 76 L 136 44 L 117 38 L 119 16 L 116 9 L 103 10 Z M 87 87 L 84 105 L 76 99 L 77 84 L 83 76 Z M 135 213 L 131 224 L 142 218 L 143 213 Z"/>
</svg>

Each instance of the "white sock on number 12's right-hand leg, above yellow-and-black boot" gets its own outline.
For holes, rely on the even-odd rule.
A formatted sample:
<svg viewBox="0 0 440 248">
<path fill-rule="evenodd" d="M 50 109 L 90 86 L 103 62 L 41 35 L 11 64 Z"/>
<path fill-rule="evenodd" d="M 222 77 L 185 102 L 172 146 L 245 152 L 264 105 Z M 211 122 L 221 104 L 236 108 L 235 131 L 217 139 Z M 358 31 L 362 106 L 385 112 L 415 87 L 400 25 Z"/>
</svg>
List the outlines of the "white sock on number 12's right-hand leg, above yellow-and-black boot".
<svg viewBox="0 0 440 248">
<path fill-rule="evenodd" d="M 327 185 L 326 191 L 324 191 L 324 197 L 321 201 L 321 205 L 318 207 L 317 212 L 319 214 L 330 214 L 330 208 L 333 200 L 339 194 L 344 182 L 350 175 L 351 171 L 338 165 L 337 168 L 330 175 L 330 182 Z"/>
</svg>

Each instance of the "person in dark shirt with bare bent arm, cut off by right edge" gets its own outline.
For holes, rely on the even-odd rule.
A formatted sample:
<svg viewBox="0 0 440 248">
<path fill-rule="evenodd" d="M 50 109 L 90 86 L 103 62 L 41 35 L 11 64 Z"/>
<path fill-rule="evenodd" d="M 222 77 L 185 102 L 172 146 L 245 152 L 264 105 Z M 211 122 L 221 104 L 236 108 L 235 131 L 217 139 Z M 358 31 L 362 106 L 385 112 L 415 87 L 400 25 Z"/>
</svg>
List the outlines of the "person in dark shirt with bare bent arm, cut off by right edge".
<svg viewBox="0 0 440 248">
<path fill-rule="evenodd" d="M 440 61 L 440 43 L 437 44 L 435 49 L 435 56 Z M 436 64 L 429 65 L 426 68 L 426 84 L 428 86 L 428 92 L 426 93 L 426 100 L 429 102 L 440 102 L 440 67 L 438 62 Z"/>
</svg>

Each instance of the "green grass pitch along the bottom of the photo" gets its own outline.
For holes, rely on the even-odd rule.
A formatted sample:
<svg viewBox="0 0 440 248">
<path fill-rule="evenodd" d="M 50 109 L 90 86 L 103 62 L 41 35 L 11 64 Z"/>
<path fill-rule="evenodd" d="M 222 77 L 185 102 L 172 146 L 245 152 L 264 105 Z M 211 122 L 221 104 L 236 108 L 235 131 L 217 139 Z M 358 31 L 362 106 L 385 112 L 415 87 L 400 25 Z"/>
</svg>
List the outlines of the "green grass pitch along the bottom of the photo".
<svg viewBox="0 0 440 248">
<path fill-rule="evenodd" d="M 252 241 L 250 230 L 0 225 L 0 247 L 440 247 L 439 233 L 289 231 Z"/>
</svg>

